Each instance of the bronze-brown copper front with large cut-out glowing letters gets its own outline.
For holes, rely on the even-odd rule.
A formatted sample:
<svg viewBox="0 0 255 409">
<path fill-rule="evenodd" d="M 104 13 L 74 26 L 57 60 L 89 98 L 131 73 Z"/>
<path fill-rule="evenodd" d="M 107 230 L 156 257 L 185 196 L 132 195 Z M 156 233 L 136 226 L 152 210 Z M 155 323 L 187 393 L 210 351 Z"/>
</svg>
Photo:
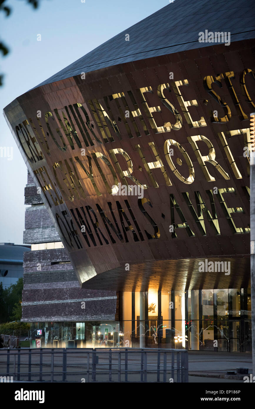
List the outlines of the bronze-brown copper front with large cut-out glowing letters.
<svg viewBox="0 0 255 409">
<path fill-rule="evenodd" d="M 248 285 L 252 45 L 103 68 L 6 108 L 83 287 L 211 288 L 206 257 L 232 261 L 224 288 Z"/>
</svg>

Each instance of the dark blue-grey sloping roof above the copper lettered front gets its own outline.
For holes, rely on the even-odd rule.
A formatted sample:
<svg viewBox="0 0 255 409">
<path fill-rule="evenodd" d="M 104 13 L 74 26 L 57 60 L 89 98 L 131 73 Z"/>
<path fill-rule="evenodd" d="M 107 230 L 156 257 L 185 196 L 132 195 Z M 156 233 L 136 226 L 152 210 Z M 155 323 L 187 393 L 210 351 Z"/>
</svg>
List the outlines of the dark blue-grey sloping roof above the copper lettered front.
<svg viewBox="0 0 255 409">
<path fill-rule="evenodd" d="M 111 65 L 207 47 L 212 43 L 198 42 L 199 31 L 206 29 L 230 31 L 231 42 L 254 38 L 254 10 L 254 0 L 175 0 L 37 86 Z M 130 41 L 125 41 L 125 34 Z"/>
</svg>

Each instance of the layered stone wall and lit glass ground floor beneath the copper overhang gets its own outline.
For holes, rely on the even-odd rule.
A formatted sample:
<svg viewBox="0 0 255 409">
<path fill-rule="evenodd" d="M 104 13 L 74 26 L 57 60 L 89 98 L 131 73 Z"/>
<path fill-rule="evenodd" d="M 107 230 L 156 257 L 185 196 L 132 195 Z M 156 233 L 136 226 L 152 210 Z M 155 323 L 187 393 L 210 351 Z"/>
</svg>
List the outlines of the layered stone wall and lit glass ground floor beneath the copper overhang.
<svg viewBox="0 0 255 409">
<path fill-rule="evenodd" d="M 31 207 L 24 241 L 32 251 L 24 253 L 22 321 L 32 323 L 31 340 L 41 338 L 45 347 L 137 348 L 141 325 L 150 348 L 251 352 L 250 289 L 81 289 L 29 174 L 25 204 Z"/>
</svg>

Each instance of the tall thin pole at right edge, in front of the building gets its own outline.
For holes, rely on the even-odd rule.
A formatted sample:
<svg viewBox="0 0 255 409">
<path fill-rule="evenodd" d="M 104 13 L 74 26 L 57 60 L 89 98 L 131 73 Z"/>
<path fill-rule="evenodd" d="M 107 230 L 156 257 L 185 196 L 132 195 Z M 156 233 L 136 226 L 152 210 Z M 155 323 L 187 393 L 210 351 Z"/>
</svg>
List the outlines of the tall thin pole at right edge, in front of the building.
<svg viewBox="0 0 255 409">
<path fill-rule="evenodd" d="M 251 330 L 252 330 L 252 357 L 253 376 L 255 376 L 255 112 L 250 114 L 250 211 L 251 211 Z"/>
</svg>

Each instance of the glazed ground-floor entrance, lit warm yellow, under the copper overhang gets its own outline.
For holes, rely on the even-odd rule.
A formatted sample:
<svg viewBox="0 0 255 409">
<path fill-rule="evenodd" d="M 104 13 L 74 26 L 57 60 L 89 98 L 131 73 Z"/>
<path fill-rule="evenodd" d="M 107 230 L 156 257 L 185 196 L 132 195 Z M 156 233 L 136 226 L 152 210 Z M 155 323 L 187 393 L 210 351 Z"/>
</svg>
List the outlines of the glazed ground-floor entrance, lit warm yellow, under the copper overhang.
<svg viewBox="0 0 255 409">
<path fill-rule="evenodd" d="M 247 289 L 123 292 L 121 303 L 119 321 L 33 323 L 31 346 L 139 348 L 142 337 L 145 348 L 251 351 Z"/>
</svg>

